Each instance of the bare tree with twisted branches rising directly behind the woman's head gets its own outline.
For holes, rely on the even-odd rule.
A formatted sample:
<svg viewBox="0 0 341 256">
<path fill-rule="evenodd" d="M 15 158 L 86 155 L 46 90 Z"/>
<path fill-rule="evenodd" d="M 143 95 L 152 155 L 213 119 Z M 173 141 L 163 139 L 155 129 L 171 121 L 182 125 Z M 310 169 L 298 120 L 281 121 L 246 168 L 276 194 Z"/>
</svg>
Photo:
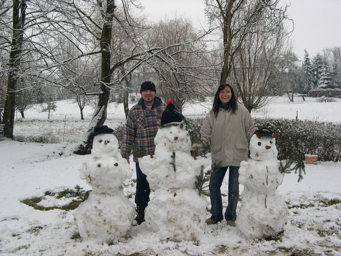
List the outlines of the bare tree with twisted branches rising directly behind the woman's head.
<svg viewBox="0 0 341 256">
<path fill-rule="evenodd" d="M 286 19 L 286 6 L 278 8 L 279 0 L 205 0 L 205 3 L 211 26 L 222 32 L 220 83 L 226 82 L 231 74 L 235 55 L 247 35 L 271 32 Z"/>
</svg>

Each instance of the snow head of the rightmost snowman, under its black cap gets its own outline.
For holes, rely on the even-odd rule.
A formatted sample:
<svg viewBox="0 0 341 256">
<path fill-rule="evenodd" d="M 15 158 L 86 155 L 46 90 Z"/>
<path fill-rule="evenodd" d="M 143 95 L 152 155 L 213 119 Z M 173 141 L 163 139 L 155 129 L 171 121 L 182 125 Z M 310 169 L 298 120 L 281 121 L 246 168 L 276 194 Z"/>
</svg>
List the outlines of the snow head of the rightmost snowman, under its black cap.
<svg viewBox="0 0 341 256">
<path fill-rule="evenodd" d="M 260 139 L 254 134 L 250 140 L 250 156 L 254 160 L 277 159 L 276 139 L 265 136 Z"/>
</svg>

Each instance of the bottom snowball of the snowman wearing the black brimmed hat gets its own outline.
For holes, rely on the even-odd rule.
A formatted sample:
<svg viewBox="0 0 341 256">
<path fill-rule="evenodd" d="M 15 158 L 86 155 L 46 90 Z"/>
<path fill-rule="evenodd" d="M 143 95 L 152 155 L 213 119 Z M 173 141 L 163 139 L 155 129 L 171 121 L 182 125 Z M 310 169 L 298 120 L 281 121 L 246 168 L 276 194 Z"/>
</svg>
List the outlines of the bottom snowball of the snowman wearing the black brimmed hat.
<svg viewBox="0 0 341 256">
<path fill-rule="evenodd" d="M 75 220 L 83 239 L 97 243 L 117 243 L 131 227 L 135 209 L 122 191 L 108 195 L 91 192 L 76 209 Z"/>
</svg>

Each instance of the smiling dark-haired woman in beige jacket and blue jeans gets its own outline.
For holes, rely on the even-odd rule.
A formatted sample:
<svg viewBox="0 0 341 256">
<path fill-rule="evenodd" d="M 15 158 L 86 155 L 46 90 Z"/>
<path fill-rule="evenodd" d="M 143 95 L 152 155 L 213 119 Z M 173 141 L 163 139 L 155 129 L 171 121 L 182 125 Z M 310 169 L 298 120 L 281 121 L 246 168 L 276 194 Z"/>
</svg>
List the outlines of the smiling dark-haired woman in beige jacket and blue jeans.
<svg viewBox="0 0 341 256">
<path fill-rule="evenodd" d="M 237 103 L 232 86 L 221 84 L 214 96 L 213 108 L 200 129 L 202 139 L 211 145 L 212 164 L 221 162 L 221 167 L 211 173 L 209 191 L 212 216 L 206 219 L 207 224 L 217 224 L 223 220 L 220 187 L 229 169 L 225 219 L 227 225 L 235 226 L 239 196 L 238 170 L 240 162 L 248 159 L 247 140 L 256 130 L 249 111 Z"/>
</svg>

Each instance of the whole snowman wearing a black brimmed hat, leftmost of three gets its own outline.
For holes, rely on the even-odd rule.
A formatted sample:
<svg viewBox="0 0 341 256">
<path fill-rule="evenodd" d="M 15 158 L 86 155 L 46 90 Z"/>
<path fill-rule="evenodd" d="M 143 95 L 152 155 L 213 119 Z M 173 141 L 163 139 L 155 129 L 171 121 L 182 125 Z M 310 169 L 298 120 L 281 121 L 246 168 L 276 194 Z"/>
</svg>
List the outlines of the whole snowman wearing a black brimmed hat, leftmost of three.
<svg viewBox="0 0 341 256">
<path fill-rule="evenodd" d="M 130 166 L 121 157 L 113 129 L 96 127 L 91 155 L 87 156 L 79 176 L 92 187 L 89 198 L 75 212 L 79 234 L 97 243 L 118 242 L 127 234 L 135 217 L 133 204 L 123 194 L 122 183 L 132 176 Z"/>
</svg>

